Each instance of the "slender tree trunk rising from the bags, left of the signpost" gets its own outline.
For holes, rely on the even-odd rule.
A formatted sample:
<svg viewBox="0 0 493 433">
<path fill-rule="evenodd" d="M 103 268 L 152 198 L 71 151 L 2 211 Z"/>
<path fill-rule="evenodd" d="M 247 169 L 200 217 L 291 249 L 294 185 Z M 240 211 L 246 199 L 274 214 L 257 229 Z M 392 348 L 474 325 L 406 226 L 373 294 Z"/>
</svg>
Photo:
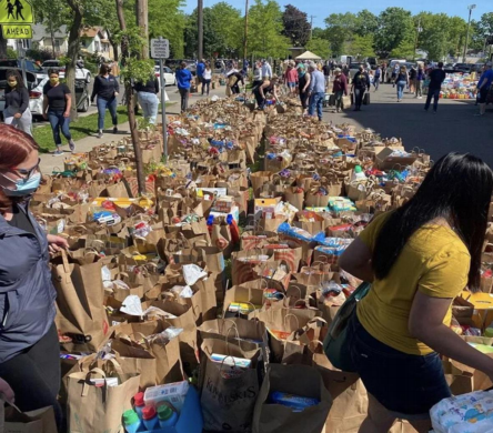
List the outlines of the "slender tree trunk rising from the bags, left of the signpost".
<svg viewBox="0 0 493 433">
<path fill-rule="evenodd" d="M 115 0 L 117 2 L 117 16 L 118 22 L 120 23 L 120 30 L 124 32 L 127 30 L 125 17 L 123 12 L 123 0 Z M 128 36 L 123 36 L 121 39 L 121 64 L 125 66 L 127 59 L 130 57 L 129 39 Z M 142 150 L 139 143 L 139 132 L 137 130 L 137 120 L 134 108 L 134 94 L 132 85 L 129 80 L 125 81 L 125 101 L 127 101 L 127 113 L 129 114 L 129 125 L 130 135 L 132 138 L 133 151 L 135 153 L 135 165 L 137 165 L 137 182 L 139 187 L 139 194 L 142 195 L 145 192 L 145 175 L 143 171 L 142 163 Z"/>
</svg>

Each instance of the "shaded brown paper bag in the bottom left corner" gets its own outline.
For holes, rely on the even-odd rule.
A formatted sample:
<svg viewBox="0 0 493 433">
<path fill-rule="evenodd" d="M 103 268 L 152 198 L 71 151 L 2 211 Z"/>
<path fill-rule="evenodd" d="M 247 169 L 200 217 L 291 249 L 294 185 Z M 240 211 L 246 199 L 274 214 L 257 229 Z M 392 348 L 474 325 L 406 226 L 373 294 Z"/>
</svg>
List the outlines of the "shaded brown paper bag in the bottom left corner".
<svg viewBox="0 0 493 433">
<path fill-rule="evenodd" d="M 20 412 L 17 406 L 7 406 L 0 400 L 0 432 L 2 433 L 56 433 L 53 407 Z"/>
</svg>

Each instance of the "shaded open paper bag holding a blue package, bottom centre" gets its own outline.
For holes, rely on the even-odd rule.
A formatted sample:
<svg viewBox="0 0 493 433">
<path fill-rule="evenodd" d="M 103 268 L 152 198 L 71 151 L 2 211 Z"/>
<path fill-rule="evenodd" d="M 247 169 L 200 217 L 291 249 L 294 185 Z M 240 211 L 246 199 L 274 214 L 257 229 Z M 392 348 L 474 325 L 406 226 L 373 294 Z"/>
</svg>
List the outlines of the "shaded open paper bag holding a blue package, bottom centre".
<svg viewBox="0 0 493 433">
<path fill-rule="evenodd" d="M 270 403 L 270 394 L 274 391 L 318 399 L 320 403 L 293 412 Z M 253 433 L 320 433 L 331 406 L 331 394 L 315 367 L 270 364 L 253 413 Z"/>
</svg>

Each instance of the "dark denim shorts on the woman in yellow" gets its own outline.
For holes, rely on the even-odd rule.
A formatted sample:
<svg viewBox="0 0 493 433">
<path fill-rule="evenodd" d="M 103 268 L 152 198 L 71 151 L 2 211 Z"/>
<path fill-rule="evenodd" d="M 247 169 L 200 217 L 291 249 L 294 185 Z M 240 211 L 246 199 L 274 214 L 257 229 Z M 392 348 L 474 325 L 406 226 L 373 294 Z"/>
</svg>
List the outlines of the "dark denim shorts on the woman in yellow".
<svg viewBox="0 0 493 433">
<path fill-rule="evenodd" d="M 352 361 L 368 392 L 386 410 L 426 414 L 452 396 L 437 353 L 419 356 L 392 349 L 370 335 L 356 314 L 350 326 Z"/>
</svg>

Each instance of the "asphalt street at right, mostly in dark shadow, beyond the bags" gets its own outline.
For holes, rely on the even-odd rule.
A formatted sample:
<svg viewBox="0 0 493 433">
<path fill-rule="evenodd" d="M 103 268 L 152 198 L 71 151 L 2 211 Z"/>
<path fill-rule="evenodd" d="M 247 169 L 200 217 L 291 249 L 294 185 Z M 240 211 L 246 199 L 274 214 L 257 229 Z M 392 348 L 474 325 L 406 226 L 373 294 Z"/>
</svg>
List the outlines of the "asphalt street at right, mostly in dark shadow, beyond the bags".
<svg viewBox="0 0 493 433">
<path fill-rule="evenodd" d="M 378 92 L 372 89 L 371 103 L 363 111 L 333 113 L 326 108 L 323 119 L 371 128 L 382 138 L 402 138 L 406 150 L 424 149 L 435 161 L 447 152 L 470 152 L 493 168 L 492 105 L 485 115 L 474 117 L 479 110 L 471 100 L 441 99 L 436 114 L 424 111 L 424 103 L 425 97 L 411 94 L 398 102 L 396 89 L 381 84 Z"/>
</svg>

